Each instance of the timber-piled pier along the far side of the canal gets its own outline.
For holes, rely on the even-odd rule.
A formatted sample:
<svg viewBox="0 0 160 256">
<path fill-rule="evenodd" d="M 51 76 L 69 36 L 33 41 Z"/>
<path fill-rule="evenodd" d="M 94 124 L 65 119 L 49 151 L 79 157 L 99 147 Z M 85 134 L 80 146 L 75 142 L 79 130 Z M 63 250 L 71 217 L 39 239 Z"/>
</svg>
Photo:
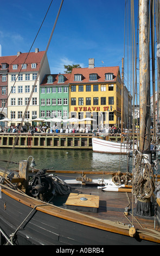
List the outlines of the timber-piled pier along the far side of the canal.
<svg viewBox="0 0 160 256">
<path fill-rule="evenodd" d="M 0 148 L 12 148 L 16 133 L 0 133 Z M 16 148 L 92 149 L 93 133 L 20 133 Z M 120 141 L 120 135 L 107 136 L 107 140 Z"/>
</svg>

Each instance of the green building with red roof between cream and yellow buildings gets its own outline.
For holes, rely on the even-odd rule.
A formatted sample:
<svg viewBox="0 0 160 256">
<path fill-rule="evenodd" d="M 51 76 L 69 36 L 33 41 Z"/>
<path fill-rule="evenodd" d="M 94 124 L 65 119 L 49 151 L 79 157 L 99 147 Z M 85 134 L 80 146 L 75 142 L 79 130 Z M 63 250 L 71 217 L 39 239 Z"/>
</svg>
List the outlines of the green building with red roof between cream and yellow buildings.
<svg viewBox="0 0 160 256">
<path fill-rule="evenodd" d="M 68 118 L 71 74 L 46 75 L 40 84 L 40 117 Z"/>
</svg>

